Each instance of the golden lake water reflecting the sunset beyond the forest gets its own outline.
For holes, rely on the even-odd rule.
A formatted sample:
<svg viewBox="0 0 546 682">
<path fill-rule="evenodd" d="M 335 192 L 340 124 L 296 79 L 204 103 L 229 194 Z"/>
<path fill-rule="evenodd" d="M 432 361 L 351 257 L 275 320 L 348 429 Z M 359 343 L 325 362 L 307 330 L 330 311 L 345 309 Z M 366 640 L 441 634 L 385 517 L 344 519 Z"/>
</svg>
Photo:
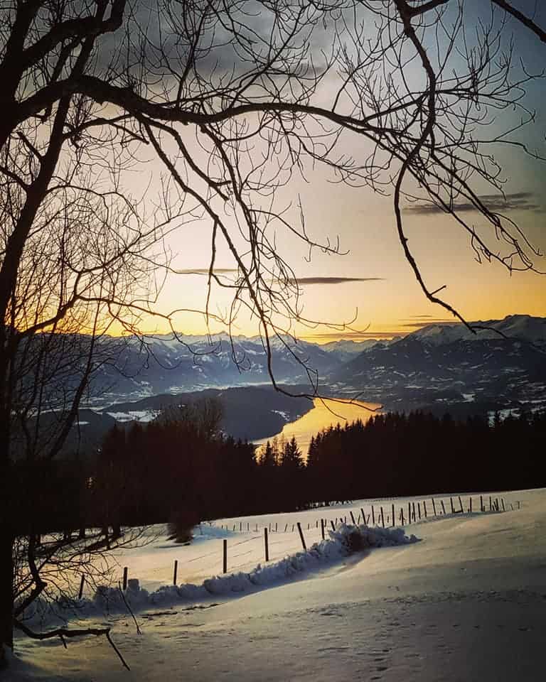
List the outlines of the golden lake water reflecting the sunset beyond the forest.
<svg viewBox="0 0 546 682">
<path fill-rule="evenodd" d="M 337 423 L 345 426 L 346 423 L 351 423 L 357 419 L 366 422 L 373 416 L 374 411 L 380 408 L 380 405 L 375 403 L 363 403 L 360 401 L 349 403 L 321 398 L 315 398 L 313 404 L 314 407 L 308 413 L 296 419 L 296 421 L 285 424 L 281 433 L 277 433 L 277 438 L 284 437 L 287 440 L 290 440 L 295 435 L 304 458 L 307 457 L 311 437 L 322 431 L 323 428 L 336 426 Z M 257 445 L 264 445 L 267 443 L 267 440 L 272 440 L 272 438 L 274 436 L 255 440 L 255 443 Z"/>
</svg>

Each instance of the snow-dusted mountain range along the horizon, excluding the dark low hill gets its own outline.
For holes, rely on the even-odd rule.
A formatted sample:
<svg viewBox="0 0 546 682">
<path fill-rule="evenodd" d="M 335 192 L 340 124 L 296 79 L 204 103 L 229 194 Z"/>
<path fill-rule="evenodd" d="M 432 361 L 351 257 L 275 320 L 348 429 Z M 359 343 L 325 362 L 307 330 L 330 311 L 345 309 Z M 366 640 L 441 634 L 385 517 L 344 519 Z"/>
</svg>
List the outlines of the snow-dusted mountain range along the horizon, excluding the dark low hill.
<svg viewBox="0 0 546 682">
<path fill-rule="evenodd" d="M 277 381 L 295 384 L 309 381 L 309 368 L 331 388 L 369 389 L 373 395 L 365 398 L 380 402 L 392 386 L 414 391 L 469 384 L 478 390 L 479 381 L 542 381 L 546 318 L 510 315 L 472 324 L 475 332 L 462 324 L 434 324 L 394 340 L 326 345 L 274 337 L 272 370 Z M 116 361 L 105 363 L 95 378 L 90 404 L 268 383 L 261 337 L 155 335 L 144 343 L 129 337 L 119 340 Z"/>
</svg>

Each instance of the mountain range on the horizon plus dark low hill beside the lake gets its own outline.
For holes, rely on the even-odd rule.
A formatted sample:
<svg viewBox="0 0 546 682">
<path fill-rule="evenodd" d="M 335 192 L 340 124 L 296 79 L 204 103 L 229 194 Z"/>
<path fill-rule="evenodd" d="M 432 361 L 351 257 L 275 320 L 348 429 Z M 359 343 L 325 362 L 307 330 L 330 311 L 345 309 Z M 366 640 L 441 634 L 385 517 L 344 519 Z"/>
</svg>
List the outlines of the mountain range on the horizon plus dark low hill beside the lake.
<svg viewBox="0 0 546 682">
<path fill-rule="evenodd" d="M 390 410 L 465 417 L 546 408 L 546 318 L 510 315 L 473 325 L 434 324 L 393 340 L 323 346 L 276 338 L 272 367 L 291 392 L 312 391 L 309 367 L 321 377 L 321 394 L 358 396 Z M 165 406 L 199 398 L 218 398 L 225 433 L 248 439 L 278 433 L 312 406 L 272 389 L 259 337 L 157 335 L 144 345 L 124 338 L 94 389 L 80 410 L 78 438 L 93 433 L 95 442 L 114 421 L 149 421 Z"/>
</svg>

